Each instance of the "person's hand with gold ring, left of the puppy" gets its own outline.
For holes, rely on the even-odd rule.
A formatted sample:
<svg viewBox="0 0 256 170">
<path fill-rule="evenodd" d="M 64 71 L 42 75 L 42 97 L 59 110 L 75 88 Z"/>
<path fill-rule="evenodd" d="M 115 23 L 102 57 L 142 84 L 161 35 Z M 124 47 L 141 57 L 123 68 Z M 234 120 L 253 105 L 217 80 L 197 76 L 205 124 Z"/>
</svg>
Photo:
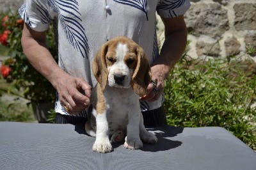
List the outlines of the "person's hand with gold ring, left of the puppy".
<svg viewBox="0 0 256 170">
<path fill-rule="evenodd" d="M 65 74 L 58 79 L 56 88 L 68 114 L 78 114 L 90 105 L 92 87 L 83 79 Z"/>
</svg>

